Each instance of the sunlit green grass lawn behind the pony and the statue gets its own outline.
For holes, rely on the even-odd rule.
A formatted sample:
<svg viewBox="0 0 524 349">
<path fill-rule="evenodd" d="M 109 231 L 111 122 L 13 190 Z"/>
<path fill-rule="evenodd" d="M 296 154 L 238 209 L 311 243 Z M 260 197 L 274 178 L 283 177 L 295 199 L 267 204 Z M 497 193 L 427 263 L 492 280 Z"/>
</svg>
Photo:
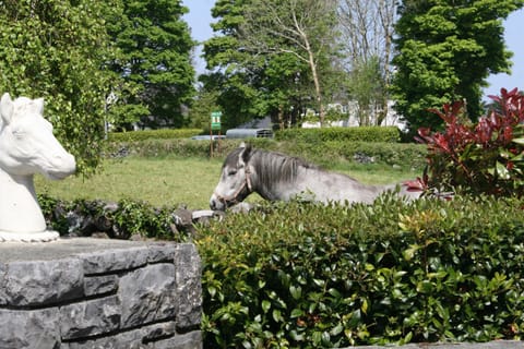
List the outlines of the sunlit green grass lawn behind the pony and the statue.
<svg viewBox="0 0 524 349">
<path fill-rule="evenodd" d="M 209 200 L 218 182 L 223 159 L 144 158 L 108 159 L 99 173 L 90 178 L 69 177 L 49 181 L 35 177 L 37 193 L 62 200 L 146 201 L 155 206 L 178 206 L 207 209 Z M 378 165 L 336 164 L 332 167 L 368 184 L 385 184 L 415 178 L 418 173 Z M 251 195 L 250 201 L 260 200 Z"/>
</svg>

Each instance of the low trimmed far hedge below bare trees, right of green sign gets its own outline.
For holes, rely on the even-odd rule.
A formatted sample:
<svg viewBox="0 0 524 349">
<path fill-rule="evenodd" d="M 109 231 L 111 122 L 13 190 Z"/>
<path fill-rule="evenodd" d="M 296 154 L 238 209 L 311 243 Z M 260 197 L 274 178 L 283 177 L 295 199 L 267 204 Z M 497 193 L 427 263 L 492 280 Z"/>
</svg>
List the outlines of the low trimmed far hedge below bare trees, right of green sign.
<svg viewBox="0 0 524 349">
<path fill-rule="evenodd" d="M 396 127 L 286 129 L 276 132 L 275 139 L 313 144 L 330 141 L 397 143 L 401 132 Z"/>
</svg>

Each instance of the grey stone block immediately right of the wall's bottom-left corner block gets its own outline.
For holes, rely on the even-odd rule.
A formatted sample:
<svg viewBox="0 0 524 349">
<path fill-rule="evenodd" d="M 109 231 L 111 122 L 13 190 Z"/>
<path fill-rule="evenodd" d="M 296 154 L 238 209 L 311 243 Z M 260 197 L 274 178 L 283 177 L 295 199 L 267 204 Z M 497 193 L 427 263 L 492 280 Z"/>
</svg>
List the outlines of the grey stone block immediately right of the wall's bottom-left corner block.
<svg viewBox="0 0 524 349">
<path fill-rule="evenodd" d="M 85 338 L 110 333 L 120 326 L 120 301 L 107 297 L 60 308 L 62 339 Z"/>
</svg>

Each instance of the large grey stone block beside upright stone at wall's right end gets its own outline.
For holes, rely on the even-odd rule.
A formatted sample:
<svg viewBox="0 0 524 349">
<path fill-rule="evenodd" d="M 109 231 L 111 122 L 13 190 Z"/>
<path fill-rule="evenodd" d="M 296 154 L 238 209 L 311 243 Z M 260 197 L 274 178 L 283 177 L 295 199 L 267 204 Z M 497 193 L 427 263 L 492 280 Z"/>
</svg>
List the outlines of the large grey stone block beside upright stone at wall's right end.
<svg viewBox="0 0 524 349">
<path fill-rule="evenodd" d="M 175 266 L 153 264 L 123 275 L 118 297 L 122 304 L 122 328 L 174 318 L 179 302 L 175 291 Z"/>
</svg>

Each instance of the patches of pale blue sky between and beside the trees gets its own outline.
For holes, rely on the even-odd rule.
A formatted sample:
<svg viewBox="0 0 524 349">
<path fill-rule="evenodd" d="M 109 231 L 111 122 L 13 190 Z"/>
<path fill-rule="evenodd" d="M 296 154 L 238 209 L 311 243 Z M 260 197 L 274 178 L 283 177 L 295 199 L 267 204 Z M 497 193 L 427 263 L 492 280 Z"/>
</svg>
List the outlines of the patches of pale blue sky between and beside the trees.
<svg viewBox="0 0 524 349">
<path fill-rule="evenodd" d="M 183 0 L 183 4 L 189 8 L 189 13 L 184 16 L 191 27 L 191 36 L 198 41 L 204 41 L 213 36 L 210 23 L 213 22 L 211 9 L 215 0 Z M 490 84 L 485 88 L 485 95 L 498 95 L 501 87 L 511 89 L 519 87 L 524 89 L 524 9 L 513 12 L 504 22 L 504 39 L 508 48 L 513 52 L 512 74 L 497 74 L 488 79 Z M 205 62 L 199 57 L 201 50 L 195 52 L 196 71 L 205 70 Z"/>
</svg>

